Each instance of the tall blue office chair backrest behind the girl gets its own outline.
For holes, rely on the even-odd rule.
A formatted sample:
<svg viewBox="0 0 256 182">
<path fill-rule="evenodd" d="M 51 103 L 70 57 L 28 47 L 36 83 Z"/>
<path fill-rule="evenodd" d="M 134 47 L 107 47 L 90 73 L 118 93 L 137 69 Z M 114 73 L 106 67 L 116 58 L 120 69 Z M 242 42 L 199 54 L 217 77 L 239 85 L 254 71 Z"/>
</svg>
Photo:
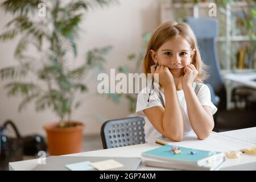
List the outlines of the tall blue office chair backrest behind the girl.
<svg viewBox="0 0 256 182">
<path fill-rule="evenodd" d="M 216 38 L 218 36 L 218 22 L 214 18 L 187 18 L 185 20 L 196 35 L 201 57 L 209 66 L 209 78 L 205 81 L 212 86 L 219 97 L 218 109 L 226 108 L 226 89 L 221 77 L 218 62 Z"/>
</svg>

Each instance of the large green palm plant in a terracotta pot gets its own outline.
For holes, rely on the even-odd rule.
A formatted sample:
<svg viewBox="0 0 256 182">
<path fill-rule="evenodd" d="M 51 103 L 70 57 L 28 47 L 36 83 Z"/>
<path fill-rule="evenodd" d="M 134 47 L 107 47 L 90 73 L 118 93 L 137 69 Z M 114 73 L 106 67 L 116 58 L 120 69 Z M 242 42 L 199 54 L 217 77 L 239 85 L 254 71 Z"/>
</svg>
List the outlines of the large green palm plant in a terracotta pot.
<svg viewBox="0 0 256 182">
<path fill-rule="evenodd" d="M 60 0 L 6 0 L 1 4 L 15 17 L 6 24 L 7 30 L 0 35 L 0 40 L 14 39 L 17 35 L 20 39 L 14 52 L 19 64 L 2 68 L 0 76 L 2 80 L 9 80 L 5 85 L 9 96 L 23 97 L 19 111 L 34 101 L 36 111 L 51 109 L 60 118 L 59 122 L 44 125 L 49 155 L 81 151 L 85 126 L 72 121 L 72 111 L 81 104 L 75 98 L 86 92 L 82 80 L 93 68 L 102 68 L 111 47 L 91 49 L 79 67 L 72 67 L 70 58 L 77 55 L 79 24 L 86 10 L 110 3 L 110 0 L 65 3 Z M 43 15 L 39 16 L 43 8 L 40 12 Z M 28 48 L 35 49 L 38 56 L 29 55 Z M 28 80 L 31 74 L 36 81 Z"/>
</svg>

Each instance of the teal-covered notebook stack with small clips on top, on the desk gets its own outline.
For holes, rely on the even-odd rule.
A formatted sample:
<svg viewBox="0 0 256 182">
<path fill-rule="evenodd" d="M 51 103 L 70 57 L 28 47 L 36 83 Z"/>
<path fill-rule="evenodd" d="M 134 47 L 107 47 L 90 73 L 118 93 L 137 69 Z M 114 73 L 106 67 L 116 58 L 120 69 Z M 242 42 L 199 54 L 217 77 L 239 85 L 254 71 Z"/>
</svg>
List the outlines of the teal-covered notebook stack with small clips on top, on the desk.
<svg viewBox="0 0 256 182">
<path fill-rule="evenodd" d="M 217 159 L 225 158 L 223 152 L 196 150 L 197 154 L 191 154 L 192 148 L 179 147 L 181 154 L 171 151 L 171 145 L 165 145 L 142 153 L 143 157 L 165 160 L 173 163 L 203 166 Z M 195 151 L 195 149 L 193 149 Z"/>
</svg>

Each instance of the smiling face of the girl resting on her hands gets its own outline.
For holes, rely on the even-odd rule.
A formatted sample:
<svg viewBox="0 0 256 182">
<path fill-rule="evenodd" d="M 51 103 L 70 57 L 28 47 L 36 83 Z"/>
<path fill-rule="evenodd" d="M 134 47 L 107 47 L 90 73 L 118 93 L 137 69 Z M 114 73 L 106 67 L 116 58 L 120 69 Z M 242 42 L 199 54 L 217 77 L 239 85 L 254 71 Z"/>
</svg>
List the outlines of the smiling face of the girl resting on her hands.
<svg viewBox="0 0 256 182">
<path fill-rule="evenodd" d="M 195 49 L 193 50 L 193 53 Z M 184 74 L 183 69 L 192 61 L 192 50 L 184 38 L 176 36 L 164 43 L 158 51 L 150 50 L 153 60 L 169 68 L 174 78 Z"/>
</svg>

